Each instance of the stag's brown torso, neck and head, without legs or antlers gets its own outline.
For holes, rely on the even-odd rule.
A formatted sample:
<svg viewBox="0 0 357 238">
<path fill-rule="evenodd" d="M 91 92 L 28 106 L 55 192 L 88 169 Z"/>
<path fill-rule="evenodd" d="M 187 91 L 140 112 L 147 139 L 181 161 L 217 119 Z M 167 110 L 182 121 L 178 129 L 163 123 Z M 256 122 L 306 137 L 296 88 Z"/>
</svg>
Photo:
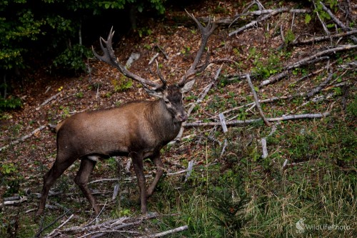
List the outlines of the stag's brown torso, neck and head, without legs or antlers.
<svg viewBox="0 0 357 238">
<path fill-rule="evenodd" d="M 187 119 L 181 90 L 169 86 L 156 101 L 74 114 L 56 127 L 58 149 L 76 157 L 138 150 L 150 154 L 161 149 L 176 137 Z"/>
</svg>

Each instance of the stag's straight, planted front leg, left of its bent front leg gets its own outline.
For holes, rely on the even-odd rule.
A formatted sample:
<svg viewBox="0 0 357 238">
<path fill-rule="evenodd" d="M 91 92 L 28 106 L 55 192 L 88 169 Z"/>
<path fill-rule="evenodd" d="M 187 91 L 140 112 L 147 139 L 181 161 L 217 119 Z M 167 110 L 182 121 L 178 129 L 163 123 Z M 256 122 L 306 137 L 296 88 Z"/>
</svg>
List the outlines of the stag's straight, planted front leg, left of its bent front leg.
<svg viewBox="0 0 357 238">
<path fill-rule="evenodd" d="M 133 160 L 133 167 L 140 189 L 141 213 L 146 214 L 148 209 L 146 207 L 146 181 L 144 176 L 143 154 L 134 152 L 131 154 L 131 159 Z"/>
</svg>

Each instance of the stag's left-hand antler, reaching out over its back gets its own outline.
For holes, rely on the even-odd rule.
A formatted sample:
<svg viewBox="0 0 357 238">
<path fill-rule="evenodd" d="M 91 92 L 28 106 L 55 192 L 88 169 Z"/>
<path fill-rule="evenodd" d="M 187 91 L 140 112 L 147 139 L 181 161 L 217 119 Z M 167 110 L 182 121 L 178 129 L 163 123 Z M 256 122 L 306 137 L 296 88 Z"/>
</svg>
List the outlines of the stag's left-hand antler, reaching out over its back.
<svg viewBox="0 0 357 238">
<path fill-rule="evenodd" d="M 97 59 L 106 62 L 107 64 L 110 64 L 112 66 L 115 66 L 116 69 L 119 69 L 121 74 L 124 74 L 124 76 L 127 76 L 130 79 L 134 79 L 135 81 L 139 81 L 144 86 L 144 89 L 148 89 L 148 86 L 154 87 L 154 89 L 158 89 L 161 87 L 160 84 L 156 84 L 154 81 L 146 80 L 141 78 L 140 76 L 131 73 L 128 69 L 126 69 L 125 66 L 119 63 L 119 61 L 116 59 L 116 56 L 114 54 L 113 46 L 112 46 L 112 39 L 114 36 L 114 31 L 113 31 L 113 26 L 111 27 L 111 31 L 109 31 L 108 38 L 104 40 L 102 37 L 99 39 L 99 42 L 101 44 L 101 51 L 103 51 L 103 56 L 100 56 L 99 54 L 96 53 L 94 50 L 94 47 L 92 46 L 92 51 L 94 56 L 96 56 Z M 104 43 L 104 45 L 103 45 Z"/>
</svg>

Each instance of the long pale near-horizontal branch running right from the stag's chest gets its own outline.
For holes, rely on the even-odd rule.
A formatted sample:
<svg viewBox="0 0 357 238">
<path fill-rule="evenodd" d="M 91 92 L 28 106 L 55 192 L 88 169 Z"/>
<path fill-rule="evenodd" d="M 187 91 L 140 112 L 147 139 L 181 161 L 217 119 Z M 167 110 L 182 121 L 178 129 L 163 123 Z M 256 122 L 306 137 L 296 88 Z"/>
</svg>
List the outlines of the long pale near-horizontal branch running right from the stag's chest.
<svg viewBox="0 0 357 238">
<path fill-rule="evenodd" d="M 267 118 L 268 122 L 278 122 L 278 121 L 287 121 L 287 120 L 295 120 L 295 119 L 313 119 L 313 118 L 322 118 L 328 116 L 330 113 L 318 113 L 318 114 L 296 114 L 296 115 L 288 115 L 288 116 L 280 116 L 280 117 L 272 117 Z M 256 122 L 261 122 L 262 119 L 248 119 L 248 120 L 232 120 L 231 122 L 226 122 L 227 125 L 236 125 L 236 124 L 251 124 Z M 186 123 L 185 127 L 212 127 L 219 126 L 220 122 L 191 122 Z"/>
</svg>

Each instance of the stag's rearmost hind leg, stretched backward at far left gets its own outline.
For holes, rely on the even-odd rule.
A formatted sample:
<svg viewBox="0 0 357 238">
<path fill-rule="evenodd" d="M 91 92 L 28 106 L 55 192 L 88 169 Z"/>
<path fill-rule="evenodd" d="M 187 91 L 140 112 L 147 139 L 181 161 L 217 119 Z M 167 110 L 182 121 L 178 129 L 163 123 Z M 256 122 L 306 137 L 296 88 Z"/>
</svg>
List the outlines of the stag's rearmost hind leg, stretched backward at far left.
<svg viewBox="0 0 357 238">
<path fill-rule="evenodd" d="M 56 180 L 64 173 L 64 171 L 74 162 L 76 157 L 64 157 L 57 154 L 56 162 L 52 165 L 51 169 L 44 175 L 44 187 L 42 189 L 39 209 L 37 210 L 37 215 L 40 215 L 44 212 L 46 205 L 46 200 L 49 195 L 49 189 L 56 182 Z"/>
</svg>

